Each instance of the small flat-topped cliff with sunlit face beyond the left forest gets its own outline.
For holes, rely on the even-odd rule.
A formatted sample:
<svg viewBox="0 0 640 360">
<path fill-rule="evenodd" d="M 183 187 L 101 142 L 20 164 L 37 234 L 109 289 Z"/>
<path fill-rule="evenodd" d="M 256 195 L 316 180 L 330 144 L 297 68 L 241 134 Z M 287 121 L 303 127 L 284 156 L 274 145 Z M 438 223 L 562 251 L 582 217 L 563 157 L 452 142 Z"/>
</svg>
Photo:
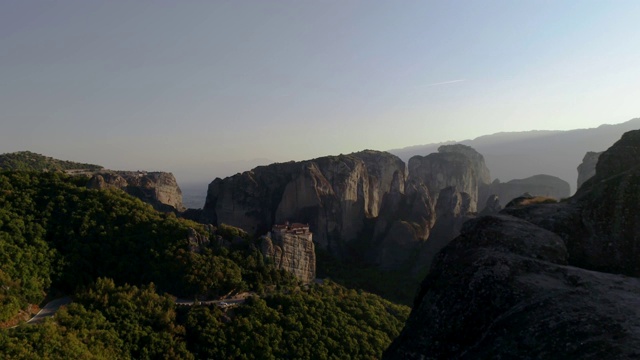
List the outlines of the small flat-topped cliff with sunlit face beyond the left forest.
<svg viewBox="0 0 640 360">
<path fill-rule="evenodd" d="M 111 171 L 93 173 L 87 185 L 92 189 L 117 188 L 151 204 L 159 211 L 183 211 L 182 191 L 167 172 Z"/>
</svg>

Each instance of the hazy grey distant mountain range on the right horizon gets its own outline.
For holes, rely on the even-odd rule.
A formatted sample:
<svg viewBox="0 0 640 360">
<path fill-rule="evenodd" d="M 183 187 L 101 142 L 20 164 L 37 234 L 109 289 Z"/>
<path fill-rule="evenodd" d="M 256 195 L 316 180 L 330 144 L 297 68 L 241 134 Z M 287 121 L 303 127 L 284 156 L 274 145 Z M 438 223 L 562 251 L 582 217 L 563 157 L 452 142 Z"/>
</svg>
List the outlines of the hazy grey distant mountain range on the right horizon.
<svg viewBox="0 0 640 360">
<path fill-rule="evenodd" d="M 492 179 L 508 181 L 536 174 L 557 176 L 576 190 L 577 167 L 587 151 L 604 151 L 623 133 L 640 129 L 640 118 L 615 125 L 567 131 L 501 132 L 458 143 L 484 155 Z M 388 150 L 405 162 L 414 155 L 437 152 L 438 147 L 455 142 L 426 144 Z"/>
</svg>

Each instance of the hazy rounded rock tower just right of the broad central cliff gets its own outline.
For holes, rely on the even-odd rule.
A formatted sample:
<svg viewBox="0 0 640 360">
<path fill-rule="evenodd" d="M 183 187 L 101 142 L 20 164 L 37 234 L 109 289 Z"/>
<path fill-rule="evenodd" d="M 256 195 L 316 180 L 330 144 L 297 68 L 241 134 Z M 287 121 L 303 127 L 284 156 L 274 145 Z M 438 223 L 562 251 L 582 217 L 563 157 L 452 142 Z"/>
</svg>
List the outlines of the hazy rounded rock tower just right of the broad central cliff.
<svg viewBox="0 0 640 360">
<path fill-rule="evenodd" d="M 490 181 L 482 155 L 464 145 L 443 145 L 438 153 L 412 157 L 409 178 L 420 179 L 436 202 L 440 191 L 451 186 L 469 194 L 471 212 L 477 209 L 478 187 Z"/>
</svg>

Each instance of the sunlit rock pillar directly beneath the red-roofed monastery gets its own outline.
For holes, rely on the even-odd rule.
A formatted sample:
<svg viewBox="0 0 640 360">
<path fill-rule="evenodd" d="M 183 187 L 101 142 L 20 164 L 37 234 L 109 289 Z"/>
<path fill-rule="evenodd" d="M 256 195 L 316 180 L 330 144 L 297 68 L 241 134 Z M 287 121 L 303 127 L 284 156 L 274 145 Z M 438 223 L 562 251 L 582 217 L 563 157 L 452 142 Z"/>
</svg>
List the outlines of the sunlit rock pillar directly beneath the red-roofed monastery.
<svg viewBox="0 0 640 360">
<path fill-rule="evenodd" d="M 261 240 L 262 254 L 276 268 L 292 272 L 304 283 L 315 280 L 316 253 L 308 225 L 275 225 Z"/>
</svg>

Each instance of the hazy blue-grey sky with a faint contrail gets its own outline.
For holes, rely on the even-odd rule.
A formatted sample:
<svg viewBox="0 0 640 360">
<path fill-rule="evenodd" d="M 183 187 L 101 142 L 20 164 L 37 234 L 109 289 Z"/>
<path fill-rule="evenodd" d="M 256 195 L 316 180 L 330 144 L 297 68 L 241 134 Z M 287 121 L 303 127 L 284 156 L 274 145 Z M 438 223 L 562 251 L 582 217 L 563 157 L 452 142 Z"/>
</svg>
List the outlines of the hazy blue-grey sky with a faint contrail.
<svg viewBox="0 0 640 360">
<path fill-rule="evenodd" d="M 639 1 L 0 2 L 0 153 L 210 181 L 640 116 Z"/>
</svg>

